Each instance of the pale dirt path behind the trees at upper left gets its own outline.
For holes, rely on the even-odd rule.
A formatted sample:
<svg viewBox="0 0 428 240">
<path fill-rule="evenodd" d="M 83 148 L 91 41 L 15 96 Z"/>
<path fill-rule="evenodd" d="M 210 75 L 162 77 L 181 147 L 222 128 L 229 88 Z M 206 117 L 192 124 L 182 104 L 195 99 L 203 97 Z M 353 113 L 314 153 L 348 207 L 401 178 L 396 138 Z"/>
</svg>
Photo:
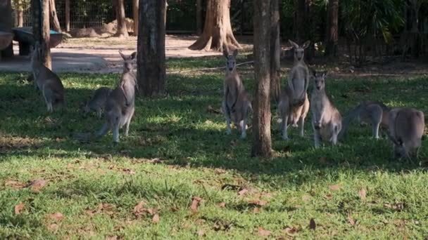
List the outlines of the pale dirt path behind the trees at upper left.
<svg viewBox="0 0 428 240">
<path fill-rule="evenodd" d="M 166 58 L 198 58 L 221 55 L 214 51 L 191 51 L 188 46 L 196 41 L 197 36 L 172 36 L 165 39 Z M 243 44 L 244 48 L 251 45 Z M 81 38 L 69 39 L 56 48 L 51 48 L 53 70 L 56 72 L 118 72 L 122 67 L 122 59 L 118 51 L 125 53 L 137 51 L 137 37 L 127 39 Z M 15 58 L 0 61 L 0 71 L 29 72 L 30 58 L 18 55 L 18 44 L 13 46 Z"/>
</svg>

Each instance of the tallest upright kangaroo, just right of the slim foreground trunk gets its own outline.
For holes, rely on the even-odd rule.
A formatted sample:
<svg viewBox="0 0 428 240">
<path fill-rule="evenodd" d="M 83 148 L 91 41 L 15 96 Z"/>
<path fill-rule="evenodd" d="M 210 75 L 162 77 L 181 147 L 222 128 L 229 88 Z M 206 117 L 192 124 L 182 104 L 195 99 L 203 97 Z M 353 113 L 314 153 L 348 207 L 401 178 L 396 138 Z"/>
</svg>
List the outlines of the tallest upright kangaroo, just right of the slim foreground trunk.
<svg viewBox="0 0 428 240">
<path fill-rule="evenodd" d="M 282 139 L 288 140 L 287 128 L 289 123 L 296 127 L 297 122 L 301 127 L 300 135 L 303 137 L 306 115 L 309 112 L 308 86 L 310 74 L 304 61 L 305 48 L 310 44 L 306 41 L 303 46 L 298 46 L 289 40 L 294 48 L 294 65 L 289 74 L 288 85 L 279 95 L 278 112 L 281 122 Z"/>
</svg>

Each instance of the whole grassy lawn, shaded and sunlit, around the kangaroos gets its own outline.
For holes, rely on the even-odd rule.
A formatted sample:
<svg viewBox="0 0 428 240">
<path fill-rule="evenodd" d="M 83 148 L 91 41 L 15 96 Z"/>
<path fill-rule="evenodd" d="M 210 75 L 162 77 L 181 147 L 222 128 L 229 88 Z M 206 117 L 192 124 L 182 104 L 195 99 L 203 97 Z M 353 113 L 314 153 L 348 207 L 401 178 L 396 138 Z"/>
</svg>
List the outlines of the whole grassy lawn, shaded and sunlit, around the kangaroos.
<svg viewBox="0 0 428 240">
<path fill-rule="evenodd" d="M 170 60 L 168 70 L 223 64 Z M 250 67 L 240 69 L 253 93 Z M 0 239 L 428 236 L 427 140 L 420 159 L 398 161 L 389 140 L 354 124 L 341 145 L 315 150 L 310 117 L 304 138 L 292 128 L 284 142 L 273 105 L 274 157 L 250 158 L 251 128 L 247 140 L 236 130 L 226 135 L 222 114 L 208 111 L 220 109 L 219 71 L 168 75 L 168 96 L 139 98 L 119 145 L 111 133 L 81 143 L 73 133 L 98 130 L 103 120 L 82 116 L 79 102 L 115 86 L 118 74 L 59 76 L 68 109 L 47 114 L 24 76 L 0 73 Z M 327 92 L 342 114 L 360 100 L 427 113 L 427 83 L 428 76 L 327 79 Z"/>
</svg>

